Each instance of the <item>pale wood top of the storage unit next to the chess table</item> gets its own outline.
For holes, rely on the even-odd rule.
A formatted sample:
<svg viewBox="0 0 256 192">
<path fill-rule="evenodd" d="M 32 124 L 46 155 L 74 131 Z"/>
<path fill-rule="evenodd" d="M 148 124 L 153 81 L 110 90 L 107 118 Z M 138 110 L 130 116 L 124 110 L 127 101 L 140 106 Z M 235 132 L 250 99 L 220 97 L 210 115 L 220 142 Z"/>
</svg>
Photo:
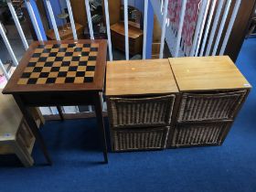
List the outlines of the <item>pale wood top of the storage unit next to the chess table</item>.
<svg viewBox="0 0 256 192">
<path fill-rule="evenodd" d="M 168 59 L 120 60 L 107 63 L 106 95 L 178 92 Z"/>
</svg>

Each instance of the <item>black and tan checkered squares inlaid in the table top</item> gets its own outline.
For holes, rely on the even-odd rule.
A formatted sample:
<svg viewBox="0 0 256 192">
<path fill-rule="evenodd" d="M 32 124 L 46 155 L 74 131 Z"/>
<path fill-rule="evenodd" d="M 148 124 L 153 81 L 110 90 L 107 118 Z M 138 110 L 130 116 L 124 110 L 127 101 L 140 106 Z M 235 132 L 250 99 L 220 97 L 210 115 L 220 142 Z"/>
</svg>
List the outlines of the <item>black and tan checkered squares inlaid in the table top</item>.
<svg viewBox="0 0 256 192">
<path fill-rule="evenodd" d="M 17 84 L 91 83 L 99 44 L 38 45 Z"/>
</svg>

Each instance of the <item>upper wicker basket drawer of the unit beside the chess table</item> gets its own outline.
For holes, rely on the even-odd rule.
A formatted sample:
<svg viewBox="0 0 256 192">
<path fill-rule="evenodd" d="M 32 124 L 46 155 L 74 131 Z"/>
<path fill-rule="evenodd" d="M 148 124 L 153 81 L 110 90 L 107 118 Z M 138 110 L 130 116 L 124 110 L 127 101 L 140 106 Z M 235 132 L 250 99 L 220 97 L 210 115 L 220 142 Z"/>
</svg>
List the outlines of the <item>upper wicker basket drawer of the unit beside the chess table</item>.
<svg viewBox="0 0 256 192">
<path fill-rule="evenodd" d="M 149 127 L 168 126 L 176 96 L 151 98 L 109 98 L 108 112 L 111 126 Z"/>
</svg>

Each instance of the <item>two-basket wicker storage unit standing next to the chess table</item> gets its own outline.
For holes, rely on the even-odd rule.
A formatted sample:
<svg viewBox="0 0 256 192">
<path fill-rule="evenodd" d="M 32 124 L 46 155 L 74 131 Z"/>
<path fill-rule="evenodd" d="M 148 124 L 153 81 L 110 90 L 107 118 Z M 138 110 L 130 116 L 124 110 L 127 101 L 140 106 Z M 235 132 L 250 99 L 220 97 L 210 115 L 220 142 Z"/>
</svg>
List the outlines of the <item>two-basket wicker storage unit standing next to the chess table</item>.
<svg viewBox="0 0 256 192">
<path fill-rule="evenodd" d="M 112 150 L 164 149 L 177 93 L 168 59 L 109 62 L 106 96 Z"/>
</svg>

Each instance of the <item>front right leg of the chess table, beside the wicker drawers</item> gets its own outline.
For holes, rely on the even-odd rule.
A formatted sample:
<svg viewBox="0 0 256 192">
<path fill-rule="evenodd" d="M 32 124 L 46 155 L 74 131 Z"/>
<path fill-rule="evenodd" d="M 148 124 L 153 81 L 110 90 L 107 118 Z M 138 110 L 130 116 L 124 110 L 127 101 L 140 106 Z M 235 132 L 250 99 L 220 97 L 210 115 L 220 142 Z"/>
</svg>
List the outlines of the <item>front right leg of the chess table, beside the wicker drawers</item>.
<svg viewBox="0 0 256 192">
<path fill-rule="evenodd" d="M 104 162 L 107 164 L 108 163 L 108 151 L 107 151 L 106 133 L 105 133 L 103 115 L 102 115 L 101 94 L 100 93 L 95 97 L 94 104 L 95 104 L 97 123 L 99 125 L 100 132 L 101 132 L 102 152 L 104 155 Z"/>
</svg>

